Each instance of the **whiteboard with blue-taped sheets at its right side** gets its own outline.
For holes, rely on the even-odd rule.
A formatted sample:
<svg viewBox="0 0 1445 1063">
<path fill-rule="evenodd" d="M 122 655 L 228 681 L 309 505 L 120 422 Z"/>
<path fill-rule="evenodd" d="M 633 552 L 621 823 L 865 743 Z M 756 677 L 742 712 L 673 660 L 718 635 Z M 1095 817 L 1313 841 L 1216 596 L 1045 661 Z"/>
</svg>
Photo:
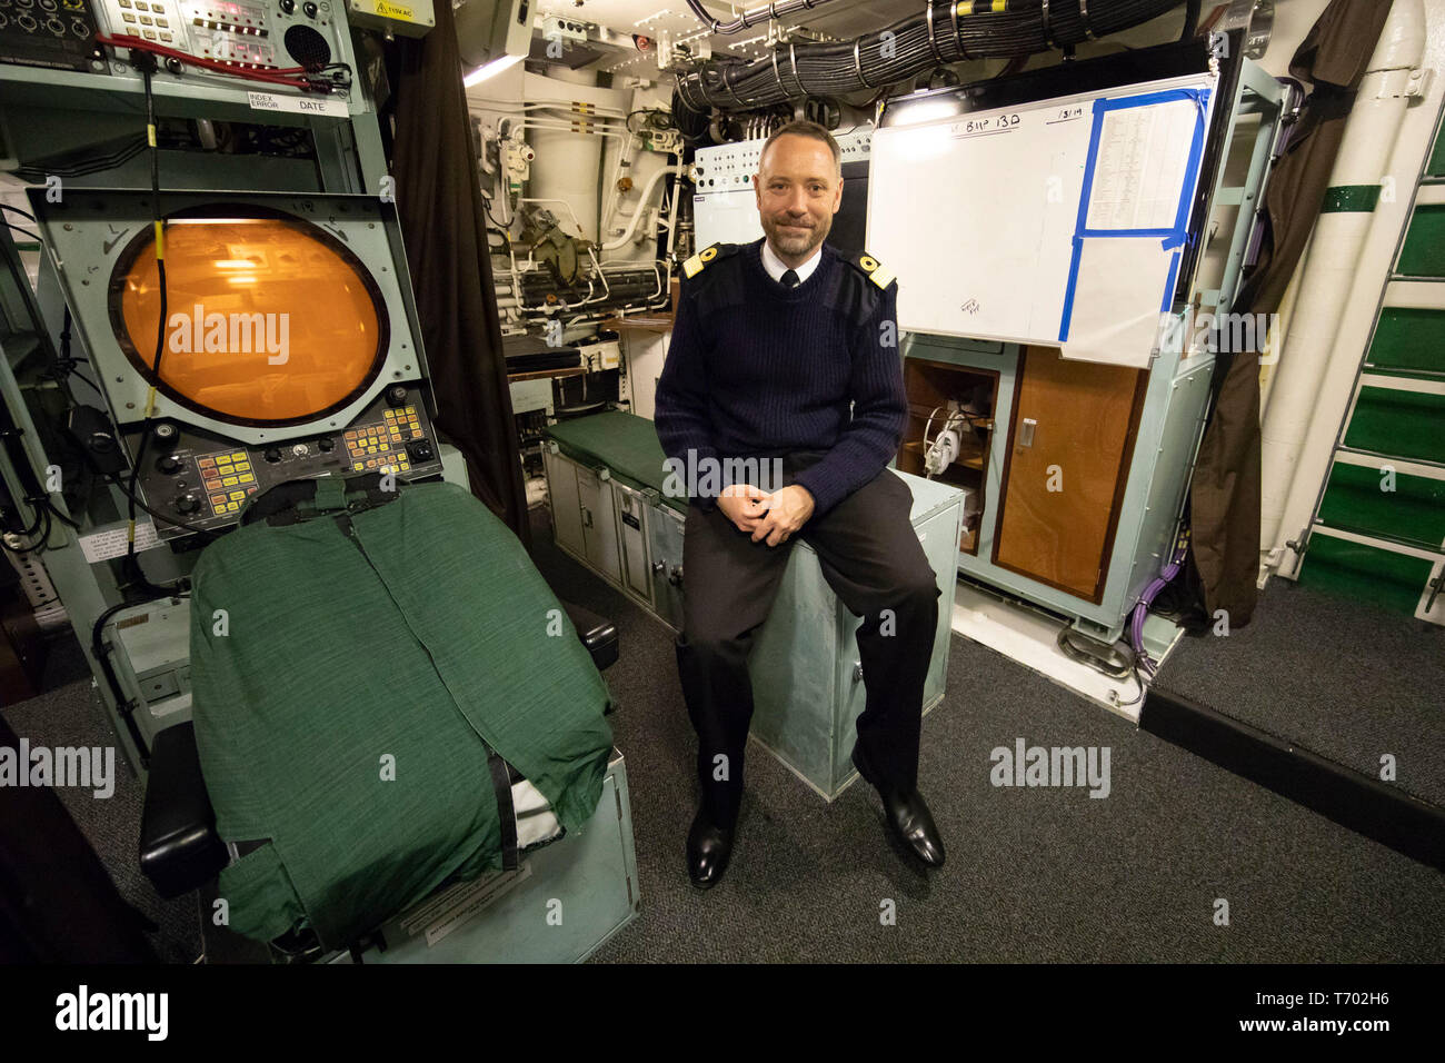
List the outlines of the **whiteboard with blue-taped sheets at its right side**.
<svg viewBox="0 0 1445 1063">
<path fill-rule="evenodd" d="M 907 331 L 1146 366 L 1172 304 L 1214 78 L 1194 75 L 873 135 L 868 253 Z"/>
</svg>

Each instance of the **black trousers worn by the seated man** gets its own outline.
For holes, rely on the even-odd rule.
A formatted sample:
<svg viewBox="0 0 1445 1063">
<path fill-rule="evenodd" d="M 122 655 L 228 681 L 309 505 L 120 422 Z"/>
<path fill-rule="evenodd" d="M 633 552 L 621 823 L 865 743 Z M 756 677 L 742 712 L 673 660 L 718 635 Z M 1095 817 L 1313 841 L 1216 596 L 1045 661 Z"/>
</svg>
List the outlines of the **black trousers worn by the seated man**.
<svg viewBox="0 0 1445 1063">
<path fill-rule="evenodd" d="M 821 457 L 806 451 L 782 458 L 783 484 Z M 698 733 L 704 808 L 717 826 L 737 821 L 753 720 L 747 654 L 754 632 L 772 612 L 796 538 L 816 551 L 824 579 L 838 599 L 854 616 L 864 618 L 857 638 L 867 697 L 857 723 L 854 764 L 876 787 L 915 788 L 923 681 L 942 592 L 909 521 L 912 505 L 907 484 L 884 469 L 776 547 L 753 542 L 720 509 L 688 508 L 678 673 Z M 828 668 L 831 662 L 818 661 L 816 667 Z M 811 678 L 822 677 L 796 675 L 793 681 Z"/>
</svg>

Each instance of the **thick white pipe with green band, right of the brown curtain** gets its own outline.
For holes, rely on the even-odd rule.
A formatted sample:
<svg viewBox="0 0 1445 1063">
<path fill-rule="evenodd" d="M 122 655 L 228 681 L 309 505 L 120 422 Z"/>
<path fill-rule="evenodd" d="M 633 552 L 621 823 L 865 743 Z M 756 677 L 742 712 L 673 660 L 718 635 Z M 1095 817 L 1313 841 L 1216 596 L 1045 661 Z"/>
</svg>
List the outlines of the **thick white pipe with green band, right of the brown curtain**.
<svg viewBox="0 0 1445 1063">
<path fill-rule="evenodd" d="M 1422 0 L 1394 0 L 1347 119 L 1327 207 L 1315 223 L 1300 276 L 1292 333 L 1274 367 L 1269 412 L 1260 428 L 1260 550 L 1264 565 L 1285 576 L 1293 577 L 1299 564 L 1299 555 L 1286 544 L 1314 518 L 1329 467 L 1328 447 L 1306 450 L 1306 441 L 1328 437 L 1332 444 L 1350 404 L 1348 382 L 1360 350 L 1354 343 L 1337 343 L 1340 323 L 1374 221 L 1381 169 L 1394 153 L 1423 55 Z M 1306 458 L 1311 453 L 1315 460 Z"/>
</svg>

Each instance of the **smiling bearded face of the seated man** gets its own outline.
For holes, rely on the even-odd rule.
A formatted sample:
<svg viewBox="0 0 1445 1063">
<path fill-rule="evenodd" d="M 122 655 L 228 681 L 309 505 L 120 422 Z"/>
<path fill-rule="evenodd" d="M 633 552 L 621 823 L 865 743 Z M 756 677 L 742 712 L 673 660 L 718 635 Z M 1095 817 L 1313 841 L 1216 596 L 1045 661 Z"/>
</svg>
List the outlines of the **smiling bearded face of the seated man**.
<svg viewBox="0 0 1445 1063">
<path fill-rule="evenodd" d="M 790 266 L 812 256 L 842 204 L 842 178 L 828 145 L 790 133 L 767 149 L 753 191 L 767 242 Z"/>
</svg>

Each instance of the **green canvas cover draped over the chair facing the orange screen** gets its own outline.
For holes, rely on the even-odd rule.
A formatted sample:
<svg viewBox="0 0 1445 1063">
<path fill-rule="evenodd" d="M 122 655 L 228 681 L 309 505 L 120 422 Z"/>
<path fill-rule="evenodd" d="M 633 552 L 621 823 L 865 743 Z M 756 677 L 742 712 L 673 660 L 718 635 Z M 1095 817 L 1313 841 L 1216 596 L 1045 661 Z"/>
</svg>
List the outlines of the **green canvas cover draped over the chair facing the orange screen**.
<svg viewBox="0 0 1445 1063">
<path fill-rule="evenodd" d="M 204 551 L 191 616 L 197 748 L 241 853 L 220 878 L 237 933 L 342 946 L 500 868 L 483 742 L 566 830 L 597 808 L 607 687 L 516 535 L 461 487 L 238 528 Z"/>
</svg>

